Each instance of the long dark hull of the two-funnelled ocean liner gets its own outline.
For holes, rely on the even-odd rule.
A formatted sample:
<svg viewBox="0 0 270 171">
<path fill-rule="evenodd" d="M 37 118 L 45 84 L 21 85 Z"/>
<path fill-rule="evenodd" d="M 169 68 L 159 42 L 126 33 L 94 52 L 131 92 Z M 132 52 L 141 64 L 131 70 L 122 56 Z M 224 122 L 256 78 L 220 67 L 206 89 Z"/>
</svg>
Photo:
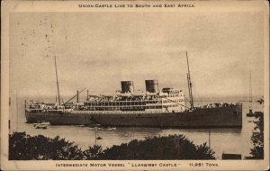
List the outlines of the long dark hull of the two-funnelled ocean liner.
<svg viewBox="0 0 270 171">
<path fill-rule="evenodd" d="M 49 121 L 55 125 L 91 125 L 122 127 L 242 127 L 242 106 L 199 108 L 194 112 L 170 113 L 31 113 L 27 122 Z"/>
</svg>

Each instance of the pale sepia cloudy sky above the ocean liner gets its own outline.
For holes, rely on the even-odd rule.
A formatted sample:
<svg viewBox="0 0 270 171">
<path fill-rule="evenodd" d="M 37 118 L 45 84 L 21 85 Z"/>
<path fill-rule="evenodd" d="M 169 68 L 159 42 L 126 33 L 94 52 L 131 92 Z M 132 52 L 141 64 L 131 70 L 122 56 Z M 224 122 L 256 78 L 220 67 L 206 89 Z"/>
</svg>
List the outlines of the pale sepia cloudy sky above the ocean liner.
<svg viewBox="0 0 270 171">
<path fill-rule="evenodd" d="M 25 95 L 77 89 L 110 94 L 122 80 L 145 91 L 187 90 L 188 52 L 196 97 L 263 95 L 264 30 L 250 13 L 14 13 L 10 18 L 10 87 Z"/>
</svg>

